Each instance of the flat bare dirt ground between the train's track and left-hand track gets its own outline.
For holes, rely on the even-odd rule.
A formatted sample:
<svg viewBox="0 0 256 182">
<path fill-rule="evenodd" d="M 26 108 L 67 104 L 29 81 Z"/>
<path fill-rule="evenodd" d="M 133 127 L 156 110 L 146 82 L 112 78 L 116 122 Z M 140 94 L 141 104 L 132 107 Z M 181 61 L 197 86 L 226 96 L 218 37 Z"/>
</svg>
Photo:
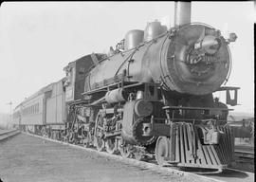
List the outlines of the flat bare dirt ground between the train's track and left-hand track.
<svg viewBox="0 0 256 182">
<path fill-rule="evenodd" d="M 0 178 L 3 182 L 188 181 L 86 153 L 62 144 L 20 134 L 0 143 Z"/>
</svg>

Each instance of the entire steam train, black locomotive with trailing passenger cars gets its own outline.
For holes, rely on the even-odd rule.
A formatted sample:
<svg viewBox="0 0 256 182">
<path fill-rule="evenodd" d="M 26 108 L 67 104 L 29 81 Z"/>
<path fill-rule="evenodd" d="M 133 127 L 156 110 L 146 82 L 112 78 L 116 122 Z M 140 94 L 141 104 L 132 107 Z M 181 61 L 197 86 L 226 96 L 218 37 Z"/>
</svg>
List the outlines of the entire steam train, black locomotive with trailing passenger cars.
<svg viewBox="0 0 256 182">
<path fill-rule="evenodd" d="M 178 2 L 174 27 L 148 23 L 144 31 L 128 31 L 107 55 L 69 63 L 62 80 L 15 108 L 15 123 L 113 155 L 221 172 L 234 150 L 227 104 L 237 104 L 239 88 L 221 85 L 229 79 L 236 35 L 226 39 L 191 23 L 190 11 L 190 3 Z M 226 104 L 213 98 L 217 91 L 226 92 Z"/>
</svg>

